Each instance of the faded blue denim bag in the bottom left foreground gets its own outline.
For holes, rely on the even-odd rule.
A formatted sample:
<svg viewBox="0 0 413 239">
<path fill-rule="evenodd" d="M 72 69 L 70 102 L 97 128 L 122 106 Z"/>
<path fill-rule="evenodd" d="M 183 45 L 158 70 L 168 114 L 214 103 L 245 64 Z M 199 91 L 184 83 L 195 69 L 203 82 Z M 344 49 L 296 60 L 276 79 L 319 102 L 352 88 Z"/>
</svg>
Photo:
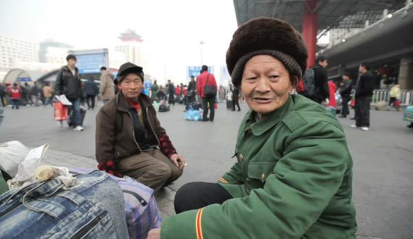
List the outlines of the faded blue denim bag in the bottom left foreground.
<svg viewBox="0 0 413 239">
<path fill-rule="evenodd" d="M 0 196 L 0 238 L 127 238 L 122 190 L 100 171 L 63 189 L 54 178 Z"/>
</svg>

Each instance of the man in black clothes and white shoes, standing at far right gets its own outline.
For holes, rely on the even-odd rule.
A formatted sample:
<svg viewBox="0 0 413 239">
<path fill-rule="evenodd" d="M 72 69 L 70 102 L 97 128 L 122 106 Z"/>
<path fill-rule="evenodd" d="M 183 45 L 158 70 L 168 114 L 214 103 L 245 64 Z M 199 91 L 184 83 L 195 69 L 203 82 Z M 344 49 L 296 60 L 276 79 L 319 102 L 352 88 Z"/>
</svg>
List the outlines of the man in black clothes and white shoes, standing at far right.
<svg viewBox="0 0 413 239">
<path fill-rule="evenodd" d="M 375 77 L 370 72 L 370 65 L 368 63 L 361 63 L 355 92 L 356 123 L 351 125 L 351 127 L 357 127 L 363 131 L 370 129 L 370 101 L 372 100 L 374 80 Z"/>
</svg>

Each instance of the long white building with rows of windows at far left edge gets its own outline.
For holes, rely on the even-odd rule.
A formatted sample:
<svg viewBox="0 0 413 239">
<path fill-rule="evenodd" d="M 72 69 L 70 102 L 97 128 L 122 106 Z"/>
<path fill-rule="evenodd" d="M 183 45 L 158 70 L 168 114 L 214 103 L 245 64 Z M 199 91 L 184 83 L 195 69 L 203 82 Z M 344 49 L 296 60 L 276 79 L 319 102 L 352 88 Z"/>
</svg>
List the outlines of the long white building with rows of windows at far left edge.
<svg viewBox="0 0 413 239">
<path fill-rule="evenodd" d="M 0 72 L 8 72 L 16 61 L 38 62 L 36 43 L 0 36 Z"/>
</svg>

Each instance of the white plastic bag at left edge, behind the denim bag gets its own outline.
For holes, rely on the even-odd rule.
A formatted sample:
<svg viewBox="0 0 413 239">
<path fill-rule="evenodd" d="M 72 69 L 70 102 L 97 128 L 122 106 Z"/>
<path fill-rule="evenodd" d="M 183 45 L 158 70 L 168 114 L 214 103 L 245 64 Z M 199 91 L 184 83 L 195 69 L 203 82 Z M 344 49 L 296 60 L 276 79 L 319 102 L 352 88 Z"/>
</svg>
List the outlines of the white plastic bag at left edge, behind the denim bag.
<svg viewBox="0 0 413 239">
<path fill-rule="evenodd" d="M 14 178 L 19 163 L 24 160 L 29 151 L 30 149 L 19 141 L 0 143 L 0 166 Z"/>
</svg>

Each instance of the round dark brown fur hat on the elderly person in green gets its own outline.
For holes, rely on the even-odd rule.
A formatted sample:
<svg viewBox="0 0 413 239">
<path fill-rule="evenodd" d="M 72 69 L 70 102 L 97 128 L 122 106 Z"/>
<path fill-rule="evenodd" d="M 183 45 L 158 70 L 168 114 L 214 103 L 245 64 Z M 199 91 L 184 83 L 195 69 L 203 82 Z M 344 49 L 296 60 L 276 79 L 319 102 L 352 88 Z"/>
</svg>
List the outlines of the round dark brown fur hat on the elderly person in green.
<svg viewBox="0 0 413 239">
<path fill-rule="evenodd" d="M 240 86 L 246 62 L 262 54 L 281 61 L 297 79 L 306 71 L 308 51 L 301 34 L 286 21 L 260 17 L 240 25 L 226 51 L 233 85 Z"/>
</svg>

